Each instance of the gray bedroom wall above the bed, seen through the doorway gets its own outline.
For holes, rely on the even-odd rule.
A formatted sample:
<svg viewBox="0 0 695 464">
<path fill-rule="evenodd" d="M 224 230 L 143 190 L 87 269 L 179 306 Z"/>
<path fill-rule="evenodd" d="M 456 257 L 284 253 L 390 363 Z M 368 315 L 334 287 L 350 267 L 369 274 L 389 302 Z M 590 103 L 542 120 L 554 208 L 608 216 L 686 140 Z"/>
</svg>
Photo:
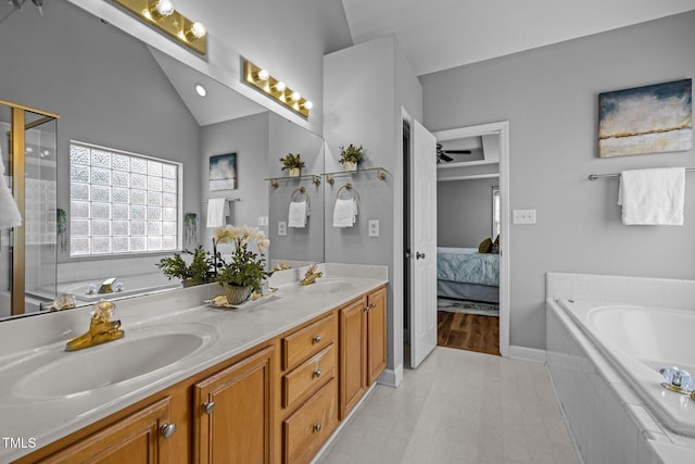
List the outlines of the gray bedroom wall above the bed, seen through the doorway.
<svg viewBox="0 0 695 464">
<path fill-rule="evenodd" d="M 438 247 L 478 248 L 492 235 L 492 187 L 498 184 L 496 178 L 437 183 Z"/>
</svg>

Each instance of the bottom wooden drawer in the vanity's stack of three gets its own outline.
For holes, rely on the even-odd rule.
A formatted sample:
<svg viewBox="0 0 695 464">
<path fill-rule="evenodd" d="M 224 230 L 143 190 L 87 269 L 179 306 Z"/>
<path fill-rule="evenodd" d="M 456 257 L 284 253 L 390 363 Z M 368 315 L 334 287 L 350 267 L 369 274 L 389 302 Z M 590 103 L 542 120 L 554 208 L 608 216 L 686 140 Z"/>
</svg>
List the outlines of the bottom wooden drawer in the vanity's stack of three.
<svg viewBox="0 0 695 464">
<path fill-rule="evenodd" d="M 332 379 L 282 423 L 283 461 L 308 463 L 338 426 L 338 383 Z"/>
</svg>

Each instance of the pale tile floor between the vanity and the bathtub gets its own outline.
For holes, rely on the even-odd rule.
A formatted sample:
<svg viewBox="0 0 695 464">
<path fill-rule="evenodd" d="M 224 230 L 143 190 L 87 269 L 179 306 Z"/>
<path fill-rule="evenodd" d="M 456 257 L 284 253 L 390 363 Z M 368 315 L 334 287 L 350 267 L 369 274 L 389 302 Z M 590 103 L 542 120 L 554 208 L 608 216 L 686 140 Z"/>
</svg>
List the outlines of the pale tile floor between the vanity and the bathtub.
<svg viewBox="0 0 695 464">
<path fill-rule="evenodd" d="M 378 385 L 320 464 L 577 463 L 543 364 L 437 347 Z"/>
</svg>

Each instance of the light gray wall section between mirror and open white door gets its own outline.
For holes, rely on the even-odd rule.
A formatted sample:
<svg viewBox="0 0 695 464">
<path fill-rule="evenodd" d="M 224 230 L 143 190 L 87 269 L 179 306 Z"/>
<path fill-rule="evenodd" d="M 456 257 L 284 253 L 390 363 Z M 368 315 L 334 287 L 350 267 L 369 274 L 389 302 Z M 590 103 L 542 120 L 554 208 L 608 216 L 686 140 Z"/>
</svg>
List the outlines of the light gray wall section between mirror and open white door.
<svg viewBox="0 0 695 464">
<path fill-rule="evenodd" d="M 401 268 L 401 108 L 421 118 L 421 88 L 392 36 L 359 43 L 325 57 L 326 171 L 340 171 L 341 146 L 362 145 L 364 167 L 389 170 L 387 180 L 375 174 L 339 177 L 326 186 L 326 261 L 389 266 L 387 368 L 397 383 L 403 364 L 403 303 Z M 336 193 L 351 181 L 359 195 L 359 215 L 353 228 L 331 227 Z M 367 237 L 367 222 L 379 220 L 380 237 Z"/>
</svg>

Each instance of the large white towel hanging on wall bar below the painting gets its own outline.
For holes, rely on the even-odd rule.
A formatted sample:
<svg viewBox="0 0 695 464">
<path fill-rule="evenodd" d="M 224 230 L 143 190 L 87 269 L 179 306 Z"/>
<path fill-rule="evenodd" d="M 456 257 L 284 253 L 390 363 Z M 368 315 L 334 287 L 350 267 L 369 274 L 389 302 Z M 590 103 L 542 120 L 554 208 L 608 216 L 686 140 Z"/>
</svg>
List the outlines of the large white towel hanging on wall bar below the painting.
<svg viewBox="0 0 695 464">
<path fill-rule="evenodd" d="M 623 171 L 618 204 L 622 224 L 683 225 L 685 168 Z"/>
</svg>

